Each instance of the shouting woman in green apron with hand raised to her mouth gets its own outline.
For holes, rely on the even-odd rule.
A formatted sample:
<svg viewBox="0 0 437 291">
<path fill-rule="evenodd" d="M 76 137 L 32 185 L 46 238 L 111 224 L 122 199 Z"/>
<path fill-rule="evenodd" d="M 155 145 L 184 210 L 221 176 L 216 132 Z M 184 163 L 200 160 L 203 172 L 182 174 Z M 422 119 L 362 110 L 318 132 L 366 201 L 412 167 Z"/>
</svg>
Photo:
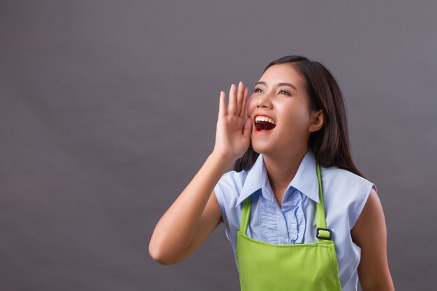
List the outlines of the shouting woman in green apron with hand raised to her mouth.
<svg viewBox="0 0 437 291">
<path fill-rule="evenodd" d="M 357 290 L 358 277 L 394 290 L 383 208 L 352 161 L 329 70 L 282 57 L 248 96 L 232 84 L 226 107 L 221 92 L 212 154 L 158 221 L 151 257 L 181 262 L 224 223 L 243 291 Z"/>
</svg>

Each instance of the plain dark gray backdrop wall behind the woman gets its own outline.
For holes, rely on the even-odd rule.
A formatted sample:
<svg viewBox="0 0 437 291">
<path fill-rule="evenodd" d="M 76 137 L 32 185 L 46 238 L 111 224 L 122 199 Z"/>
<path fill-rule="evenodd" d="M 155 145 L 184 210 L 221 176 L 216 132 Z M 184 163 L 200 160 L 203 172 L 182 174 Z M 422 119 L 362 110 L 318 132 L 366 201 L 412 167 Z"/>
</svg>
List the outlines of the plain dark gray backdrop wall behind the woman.
<svg viewBox="0 0 437 291">
<path fill-rule="evenodd" d="M 219 92 L 288 54 L 339 82 L 396 290 L 435 288 L 437 3 L 355 2 L 0 1 L 0 290 L 239 290 L 223 224 L 172 266 L 149 239 Z"/>
</svg>

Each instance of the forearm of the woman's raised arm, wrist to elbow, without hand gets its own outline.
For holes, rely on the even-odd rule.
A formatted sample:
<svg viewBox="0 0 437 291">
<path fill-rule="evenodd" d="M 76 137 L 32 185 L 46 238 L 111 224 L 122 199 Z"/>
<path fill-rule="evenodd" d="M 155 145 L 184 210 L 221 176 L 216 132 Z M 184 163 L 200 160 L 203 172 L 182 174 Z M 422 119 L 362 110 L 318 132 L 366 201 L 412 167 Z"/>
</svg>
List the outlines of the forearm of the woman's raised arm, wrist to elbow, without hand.
<svg viewBox="0 0 437 291">
<path fill-rule="evenodd" d="M 163 262 L 179 257 L 191 243 L 209 196 L 225 170 L 229 158 L 210 154 L 184 191 L 156 224 L 149 253 Z"/>
</svg>

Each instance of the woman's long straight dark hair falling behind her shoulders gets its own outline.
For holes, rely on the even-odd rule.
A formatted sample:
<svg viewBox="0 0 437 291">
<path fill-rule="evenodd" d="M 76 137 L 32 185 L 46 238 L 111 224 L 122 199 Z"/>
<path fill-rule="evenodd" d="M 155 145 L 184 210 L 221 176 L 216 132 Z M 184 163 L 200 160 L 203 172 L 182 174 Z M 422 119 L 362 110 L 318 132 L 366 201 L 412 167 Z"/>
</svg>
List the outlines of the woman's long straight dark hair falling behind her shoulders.
<svg viewBox="0 0 437 291">
<path fill-rule="evenodd" d="M 322 109 L 325 116 L 325 125 L 309 136 L 309 148 L 316 161 L 323 167 L 339 167 L 365 178 L 350 154 L 346 104 L 334 76 L 323 64 L 299 55 L 276 59 L 267 65 L 263 73 L 270 66 L 286 63 L 292 64 L 304 78 L 311 110 Z M 250 170 L 258 156 L 250 142 L 244 155 L 235 160 L 234 170 Z"/>
</svg>

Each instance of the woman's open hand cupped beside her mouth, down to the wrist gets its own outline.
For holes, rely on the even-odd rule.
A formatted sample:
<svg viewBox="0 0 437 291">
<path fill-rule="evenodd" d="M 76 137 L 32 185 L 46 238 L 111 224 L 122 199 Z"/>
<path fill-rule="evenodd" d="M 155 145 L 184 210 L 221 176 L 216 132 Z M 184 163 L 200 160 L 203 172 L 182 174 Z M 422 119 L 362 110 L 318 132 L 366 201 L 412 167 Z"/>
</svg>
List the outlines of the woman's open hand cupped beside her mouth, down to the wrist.
<svg viewBox="0 0 437 291">
<path fill-rule="evenodd" d="M 249 89 L 239 82 L 238 89 L 232 84 L 229 91 L 229 105 L 226 107 L 225 92 L 220 92 L 220 106 L 216 128 L 216 144 L 213 153 L 235 161 L 249 148 L 252 121 L 246 119 Z"/>
</svg>

